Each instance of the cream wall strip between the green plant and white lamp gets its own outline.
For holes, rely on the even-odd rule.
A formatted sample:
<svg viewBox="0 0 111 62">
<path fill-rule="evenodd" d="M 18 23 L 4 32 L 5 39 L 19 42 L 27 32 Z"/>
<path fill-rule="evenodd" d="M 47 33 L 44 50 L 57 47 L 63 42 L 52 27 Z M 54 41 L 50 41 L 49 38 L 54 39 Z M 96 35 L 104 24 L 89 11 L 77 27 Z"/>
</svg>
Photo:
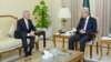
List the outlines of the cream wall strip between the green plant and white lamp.
<svg viewBox="0 0 111 62">
<path fill-rule="evenodd" d="M 62 0 L 46 0 L 49 9 L 50 20 L 52 23 L 52 31 L 57 32 L 61 29 L 61 20 L 58 17 L 59 10 L 62 7 Z"/>
</svg>

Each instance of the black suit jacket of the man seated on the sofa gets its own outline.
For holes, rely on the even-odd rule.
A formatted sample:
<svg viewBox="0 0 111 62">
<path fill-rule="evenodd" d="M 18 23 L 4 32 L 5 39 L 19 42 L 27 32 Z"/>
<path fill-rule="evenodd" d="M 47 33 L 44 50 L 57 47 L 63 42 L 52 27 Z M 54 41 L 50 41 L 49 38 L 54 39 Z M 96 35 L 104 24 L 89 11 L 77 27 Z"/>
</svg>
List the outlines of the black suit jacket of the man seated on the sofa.
<svg viewBox="0 0 111 62">
<path fill-rule="evenodd" d="M 18 20 L 17 22 L 17 30 L 14 32 L 14 38 L 17 39 L 20 39 L 22 37 L 27 37 L 27 34 L 32 30 L 32 31 L 36 31 L 36 28 L 32 23 L 31 20 L 28 20 L 28 23 L 29 23 L 29 30 L 27 29 L 27 25 L 24 23 L 24 19 L 20 19 Z"/>
</svg>

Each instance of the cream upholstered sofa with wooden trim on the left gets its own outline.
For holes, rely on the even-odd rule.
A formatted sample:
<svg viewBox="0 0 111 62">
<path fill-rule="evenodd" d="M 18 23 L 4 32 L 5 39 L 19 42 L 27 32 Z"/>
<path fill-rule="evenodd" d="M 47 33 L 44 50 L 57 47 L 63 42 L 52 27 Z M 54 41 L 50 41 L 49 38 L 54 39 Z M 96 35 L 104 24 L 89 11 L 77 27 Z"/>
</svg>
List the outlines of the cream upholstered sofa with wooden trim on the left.
<svg viewBox="0 0 111 62">
<path fill-rule="evenodd" d="M 13 38 L 17 20 L 13 16 L 0 16 L 0 56 L 16 49 L 19 49 L 21 55 L 21 40 Z"/>
</svg>

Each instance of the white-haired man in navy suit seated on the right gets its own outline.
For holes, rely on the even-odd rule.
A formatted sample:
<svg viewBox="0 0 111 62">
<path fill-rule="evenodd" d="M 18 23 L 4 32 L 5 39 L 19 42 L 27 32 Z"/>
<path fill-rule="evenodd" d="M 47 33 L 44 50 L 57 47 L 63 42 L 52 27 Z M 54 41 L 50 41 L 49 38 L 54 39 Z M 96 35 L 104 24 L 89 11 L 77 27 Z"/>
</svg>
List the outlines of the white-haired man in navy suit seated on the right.
<svg viewBox="0 0 111 62">
<path fill-rule="evenodd" d="M 92 33 L 97 31 L 97 20 L 89 16 L 89 9 L 83 8 L 82 17 L 77 27 L 77 33 L 69 39 L 69 50 L 74 50 L 74 43 L 80 42 L 80 51 L 84 52 L 85 42 L 92 40 Z"/>
</svg>

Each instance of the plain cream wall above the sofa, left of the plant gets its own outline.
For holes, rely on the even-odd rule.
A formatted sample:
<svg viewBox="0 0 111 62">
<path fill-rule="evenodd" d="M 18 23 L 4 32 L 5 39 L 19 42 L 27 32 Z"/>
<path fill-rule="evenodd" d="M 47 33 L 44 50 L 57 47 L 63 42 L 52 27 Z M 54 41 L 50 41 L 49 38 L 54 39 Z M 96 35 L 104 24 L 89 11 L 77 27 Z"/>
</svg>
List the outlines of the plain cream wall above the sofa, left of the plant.
<svg viewBox="0 0 111 62">
<path fill-rule="evenodd" d="M 0 0 L 0 14 L 12 14 L 21 18 L 23 10 L 34 8 L 39 0 Z"/>
</svg>

